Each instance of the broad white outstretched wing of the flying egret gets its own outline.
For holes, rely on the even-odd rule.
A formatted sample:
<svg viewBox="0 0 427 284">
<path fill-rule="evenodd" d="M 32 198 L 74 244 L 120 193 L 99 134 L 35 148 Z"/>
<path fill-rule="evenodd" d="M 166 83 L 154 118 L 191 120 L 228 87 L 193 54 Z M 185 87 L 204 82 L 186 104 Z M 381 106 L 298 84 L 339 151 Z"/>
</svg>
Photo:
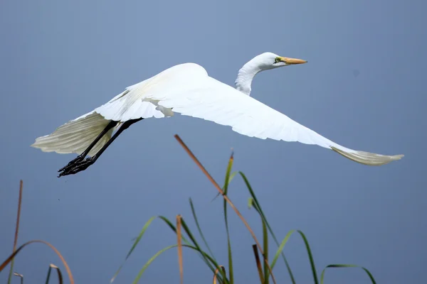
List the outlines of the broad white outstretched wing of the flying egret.
<svg viewBox="0 0 427 284">
<path fill-rule="evenodd" d="M 318 145 L 365 165 L 384 165 L 404 156 L 379 155 L 340 146 L 253 97 L 209 77 L 203 67 L 192 63 L 176 65 L 127 89 L 126 96 L 95 111 L 105 119 L 126 121 L 146 116 L 147 112 L 140 111 L 140 104 L 150 102 L 163 111 L 172 109 L 186 116 L 231 126 L 233 131 L 246 136 Z"/>
</svg>

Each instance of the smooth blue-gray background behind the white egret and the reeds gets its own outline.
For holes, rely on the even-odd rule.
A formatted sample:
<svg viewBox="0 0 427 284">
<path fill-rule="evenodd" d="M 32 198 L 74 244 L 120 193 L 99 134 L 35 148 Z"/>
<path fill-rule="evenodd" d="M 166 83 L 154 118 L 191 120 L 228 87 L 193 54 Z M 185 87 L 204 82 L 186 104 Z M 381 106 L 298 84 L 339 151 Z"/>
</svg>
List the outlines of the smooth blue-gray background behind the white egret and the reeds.
<svg viewBox="0 0 427 284">
<path fill-rule="evenodd" d="M 175 141 L 179 133 L 220 182 L 234 148 L 235 169 L 248 175 L 277 236 L 304 231 L 319 272 L 330 263 L 355 263 L 379 283 L 422 283 L 424 11 L 425 1 L 385 0 L 1 1 L 1 258 L 11 253 L 23 179 L 19 244 L 51 242 L 76 283 L 107 283 L 149 217 L 182 214 L 194 227 L 189 197 L 226 265 L 222 202 L 211 202 L 216 190 Z M 265 51 L 309 62 L 260 73 L 253 97 L 344 146 L 405 158 L 368 167 L 317 146 L 248 138 L 179 115 L 135 124 L 95 165 L 65 178 L 56 178 L 56 170 L 75 155 L 30 147 L 34 138 L 167 67 L 197 62 L 233 84 L 238 69 Z M 231 199 L 260 236 L 244 189 L 236 178 Z M 253 240 L 234 214 L 230 223 L 236 280 L 256 283 Z M 175 242 L 167 226 L 154 222 L 117 282 L 130 283 L 145 261 Z M 297 282 L 310 283 L 300 237 L 292 236 L 285 252 Z M 20 253 L 15 270 L 41 283 L 50 262 L 63 267 L 36 244 Z M 289 281 L 283 262 L 275 276 Z M 158 258 L 142 279 L 177 283 L 176 251 Z M 184 251 L 184 280 L 211 281 L 191 251 Z M 369 283 L 357 269 L 329 271 L 325 280 Z"/>
</svg>

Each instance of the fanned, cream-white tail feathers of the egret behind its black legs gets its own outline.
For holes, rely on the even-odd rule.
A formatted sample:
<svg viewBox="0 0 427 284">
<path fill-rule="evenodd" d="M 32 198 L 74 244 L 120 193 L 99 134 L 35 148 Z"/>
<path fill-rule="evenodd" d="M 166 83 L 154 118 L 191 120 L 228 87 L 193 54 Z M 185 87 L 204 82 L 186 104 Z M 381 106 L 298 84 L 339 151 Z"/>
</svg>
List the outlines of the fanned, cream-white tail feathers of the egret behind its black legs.
<svg viewBox="0 0 427 284">
<path fill-rule="evenodd" d="M 31 146 L 39 148 L 43 152 L 81 154 L 109 123 L 110 120 L 105 119 L 102 115 L 90 112 L 59 126 L 49 135 L 36 138 Z M 113 131 L 114 128 L 102 136 L 88 155 L 93 156 L 100 151 L 100 148 L 110 140 Z"/>
</svg>

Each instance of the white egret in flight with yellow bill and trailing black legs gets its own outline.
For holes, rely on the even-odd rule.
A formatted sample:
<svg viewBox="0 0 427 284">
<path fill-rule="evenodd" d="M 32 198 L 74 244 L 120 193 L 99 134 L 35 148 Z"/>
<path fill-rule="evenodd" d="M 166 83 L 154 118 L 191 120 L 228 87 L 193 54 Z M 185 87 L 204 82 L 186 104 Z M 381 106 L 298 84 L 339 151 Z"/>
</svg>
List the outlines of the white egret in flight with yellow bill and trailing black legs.
<svg viewBox="0 0 427 284">
<path fill-rule="evenodd" d="M 251 97 L 252 80 L 258 72 L 305 62 L 262 53 L 238 71 L 236 88 L 210 77 L 200 65 L 175 65 L 127 87 L 110 102 L 68 121 L 53 133 L 36 138 L 31 146 L 44 152 L 77 153 L 77 158 L 58 170 L 58 178 L 73 175 L 93 165 L 112 141 L 137 121 L 179 113 L 231 126 L 250 137 L 314 144 L 364 165 L 384 165 L 404 156 L 345 148 Z"/>
</svg>

